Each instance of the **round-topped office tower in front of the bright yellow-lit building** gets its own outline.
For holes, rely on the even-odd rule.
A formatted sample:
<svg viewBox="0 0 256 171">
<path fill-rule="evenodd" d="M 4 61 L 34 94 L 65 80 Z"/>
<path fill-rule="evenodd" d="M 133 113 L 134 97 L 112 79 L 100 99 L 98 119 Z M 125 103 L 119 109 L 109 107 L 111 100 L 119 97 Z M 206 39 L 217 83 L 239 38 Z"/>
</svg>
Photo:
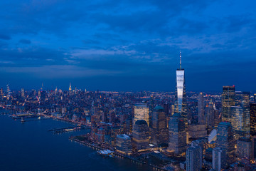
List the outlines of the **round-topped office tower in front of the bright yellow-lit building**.
<svg viewBox="0 0 256 171">
<path fill-rule="evenodd" d="M 137 120 L 132 130 L 132 146 L 145 150 L 149 146 L 149 126 L 145 120 Z"/>
</svg>

